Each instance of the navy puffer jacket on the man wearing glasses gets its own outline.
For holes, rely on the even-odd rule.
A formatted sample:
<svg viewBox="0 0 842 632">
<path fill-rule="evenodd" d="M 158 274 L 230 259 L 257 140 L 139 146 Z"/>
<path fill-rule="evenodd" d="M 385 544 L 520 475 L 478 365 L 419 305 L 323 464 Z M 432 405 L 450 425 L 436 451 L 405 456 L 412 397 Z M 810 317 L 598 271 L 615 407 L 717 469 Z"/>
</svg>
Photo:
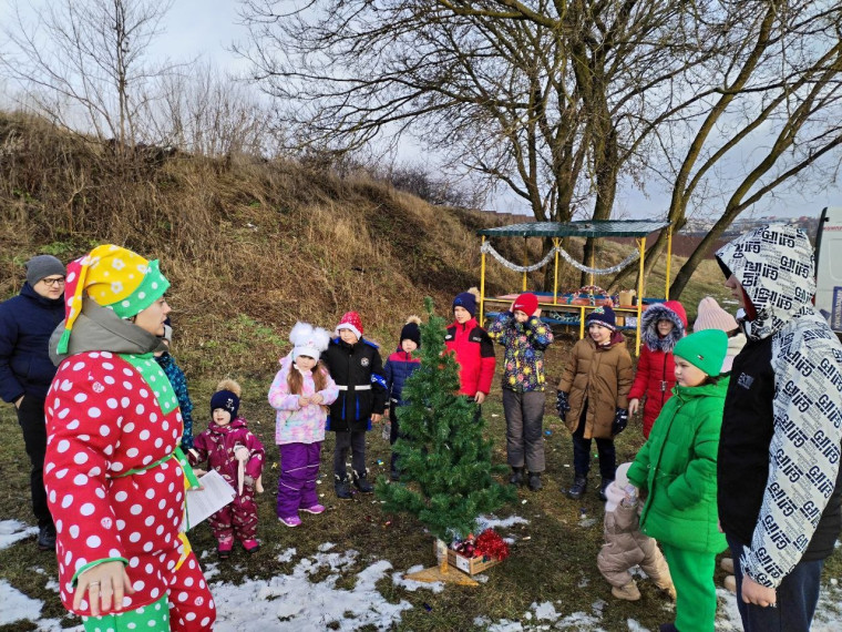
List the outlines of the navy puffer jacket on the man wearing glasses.
<svg viewBox="0 0 842 632">
<path fill-rule="evenodd" d="M 50 360 L 50 334 L 64 319 L 64 298 L 45 298 L 29 283 L 18 296 L 0 304 L 0 397 L 43 399 L 55 376 Z"/>
</svg>

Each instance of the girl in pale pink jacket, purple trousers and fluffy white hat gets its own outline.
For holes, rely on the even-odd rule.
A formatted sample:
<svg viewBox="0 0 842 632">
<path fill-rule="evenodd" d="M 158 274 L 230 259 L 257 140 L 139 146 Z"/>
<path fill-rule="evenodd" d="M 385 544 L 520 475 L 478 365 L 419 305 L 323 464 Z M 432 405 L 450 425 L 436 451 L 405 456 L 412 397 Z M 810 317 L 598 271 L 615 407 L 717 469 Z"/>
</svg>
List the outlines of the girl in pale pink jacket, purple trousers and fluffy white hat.
<svg viewBox="0 0 842 632">
<path fill-rule="evenodd" d="M 269 405 L 278 411 L 275 442 L 280 451 L 278 520 L 298 527 L 298 511 L 321 513 L 325 507 L 316 495 L 319 456 L 325 440 L 327 407 L 336 401 L 339 388 L 319 361 L 328 348 L 330 334 L 296 323 L 289 334 L 294 348 L 280 359 L 280 370 L 269 388 Z"/>
</svg>

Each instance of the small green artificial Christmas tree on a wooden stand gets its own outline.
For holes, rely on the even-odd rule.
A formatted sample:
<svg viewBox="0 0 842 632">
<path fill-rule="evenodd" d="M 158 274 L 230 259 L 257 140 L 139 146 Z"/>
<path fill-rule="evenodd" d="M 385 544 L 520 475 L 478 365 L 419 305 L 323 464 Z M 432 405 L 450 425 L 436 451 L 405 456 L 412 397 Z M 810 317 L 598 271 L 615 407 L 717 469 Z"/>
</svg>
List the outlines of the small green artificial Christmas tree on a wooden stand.
<svg viewBox="0 0 842 632">
<path fill-rule="evenodd" d="M 397 410 L 402 438 L 392 449 L 401 482 L 389 485 L 381 477 L 376 493 L 386 511 L 412 513 L 446 542 L 474 532 L 478 517 L 512 500 L 514 491 L 492 478 L 509 468 L 491 463 L 485 422 L 476 404 L 459 395 L 459 366 L 453 354 L 444 353 L 444 320 L 433 314 L 431 298 L 425 305 L 421 366 L 403 386 L 408 404 Z"/>
</svg>

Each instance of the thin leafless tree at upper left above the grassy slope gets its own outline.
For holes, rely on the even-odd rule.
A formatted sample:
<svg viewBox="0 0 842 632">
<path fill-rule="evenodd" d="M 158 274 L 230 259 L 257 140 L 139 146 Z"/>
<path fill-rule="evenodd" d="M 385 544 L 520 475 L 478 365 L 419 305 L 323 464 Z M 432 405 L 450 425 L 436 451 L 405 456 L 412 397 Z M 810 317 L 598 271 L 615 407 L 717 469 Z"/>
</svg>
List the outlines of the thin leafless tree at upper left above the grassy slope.
<svg viewBox="0 0 842 632">
<path fill-rule="evenodd" d="M 69 130 L 114 139 L 124 153 L 152 79 L 172 70 L 147 58 L 173 0 L 57 0 L 34 24 L 18 4 L 3 28 L 0 68 L 17 79 L 39 113 Z"/>
</svg>

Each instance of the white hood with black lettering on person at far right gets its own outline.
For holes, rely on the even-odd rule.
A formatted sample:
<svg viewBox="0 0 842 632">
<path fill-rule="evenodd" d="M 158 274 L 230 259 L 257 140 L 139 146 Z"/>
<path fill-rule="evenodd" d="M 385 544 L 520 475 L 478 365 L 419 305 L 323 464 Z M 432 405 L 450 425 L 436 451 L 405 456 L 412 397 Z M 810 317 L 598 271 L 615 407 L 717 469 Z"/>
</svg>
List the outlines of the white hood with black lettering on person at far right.
<svg viewBox="0 0 842 632">
<path fill-rule="evenodd" d="M 767 338 L 795 318 L 814 315 L 813 246 L 800 228 L 760 226 L 720 248 L 717 261 L 726 278 L 737 277 L 757 310 L 743 324 L 749 339 Z"/>
</svg>

